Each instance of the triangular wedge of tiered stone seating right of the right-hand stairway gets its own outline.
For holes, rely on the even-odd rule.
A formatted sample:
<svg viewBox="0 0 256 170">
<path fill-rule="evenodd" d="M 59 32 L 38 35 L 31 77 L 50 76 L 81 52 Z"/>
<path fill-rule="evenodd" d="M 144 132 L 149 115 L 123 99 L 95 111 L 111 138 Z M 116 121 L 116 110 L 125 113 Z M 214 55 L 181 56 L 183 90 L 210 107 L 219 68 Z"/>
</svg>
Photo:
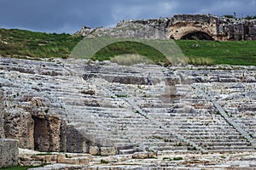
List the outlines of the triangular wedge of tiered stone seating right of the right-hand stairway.
<svg viewBox="0 0 256 170">
<path fill-rule="evenodd" d="M 218 99 L 230 119 L 242 127 L 255 142 L 256 83 L 214 83 L 201 86 L 205 87 L 213 98 Z"/>
</svg>

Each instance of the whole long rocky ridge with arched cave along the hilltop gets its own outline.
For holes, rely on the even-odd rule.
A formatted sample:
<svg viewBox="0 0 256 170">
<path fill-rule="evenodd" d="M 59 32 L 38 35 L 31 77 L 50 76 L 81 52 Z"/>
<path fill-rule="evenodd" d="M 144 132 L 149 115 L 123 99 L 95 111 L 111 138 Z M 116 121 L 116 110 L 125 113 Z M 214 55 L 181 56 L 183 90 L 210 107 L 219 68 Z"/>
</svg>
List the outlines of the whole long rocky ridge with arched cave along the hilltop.
<svg viewBox="0 0 256 170">
<path fill-rule="evenodd" d="M 156 20 L 123 20 L 114 28 L 83 27 L 82 36 L 154 39 L 256 40 L 256 20 L 240 20 L 210 14 L 176 14 Z"/>
</svg>

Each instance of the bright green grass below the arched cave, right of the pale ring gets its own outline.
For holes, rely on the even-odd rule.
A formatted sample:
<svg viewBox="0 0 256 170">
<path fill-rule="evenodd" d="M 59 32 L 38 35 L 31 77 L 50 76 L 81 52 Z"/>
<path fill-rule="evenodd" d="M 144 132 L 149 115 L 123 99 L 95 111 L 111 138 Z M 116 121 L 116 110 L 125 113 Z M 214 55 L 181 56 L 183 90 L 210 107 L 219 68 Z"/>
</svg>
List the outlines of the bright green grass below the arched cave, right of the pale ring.
<svg viewBox="0 0 256 170">
<path fill-rule="evenodd" d="M 256 41 L 189 41 L 177 40 L 183 54 L 191 60 L 209 60 L 211 65 L 256 65 Z M 196 44 L 198 44 L 196 47 Z M 200 64 L 200 63 L 198 63 Z"/>
</svg>

